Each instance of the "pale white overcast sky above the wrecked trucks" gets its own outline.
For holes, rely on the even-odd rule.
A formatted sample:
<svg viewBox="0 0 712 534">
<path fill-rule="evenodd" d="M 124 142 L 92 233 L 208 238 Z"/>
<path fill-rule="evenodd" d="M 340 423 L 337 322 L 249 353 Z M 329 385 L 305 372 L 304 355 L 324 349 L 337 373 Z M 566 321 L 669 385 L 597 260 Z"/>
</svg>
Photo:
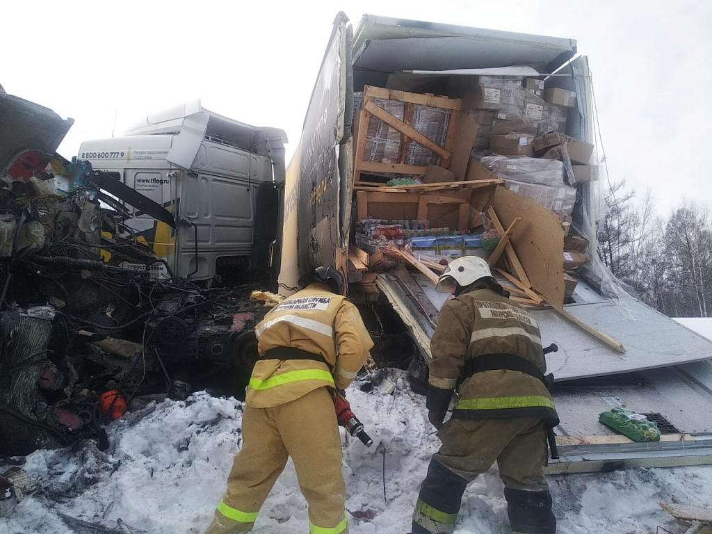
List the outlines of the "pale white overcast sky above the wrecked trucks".
<svg viewBox="0 0 712 534">
<path fill-rule="evenodd" d="M 574 38 L 589 56 L 612 179 L 668 215 L 712 207 L 712 2 L 17 1 L 3 8 L 0 84 L 75 124 L 59 148 L 119 135 L 150 112 L 200 98 L 253 125 L 301 125 L 337 11 Z M 600 150 L 601 147 L 599 147 Z"/>
</svg>

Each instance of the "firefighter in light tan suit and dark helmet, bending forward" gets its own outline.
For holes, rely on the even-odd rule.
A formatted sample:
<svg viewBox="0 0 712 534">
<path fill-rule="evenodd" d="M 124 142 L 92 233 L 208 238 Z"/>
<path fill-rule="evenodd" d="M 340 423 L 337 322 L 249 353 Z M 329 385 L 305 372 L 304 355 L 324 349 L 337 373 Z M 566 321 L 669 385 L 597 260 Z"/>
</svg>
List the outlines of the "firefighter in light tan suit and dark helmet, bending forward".
<svg viewBox="0 0 712 534">
<path fill-rule="evenodd" d="M 342 296 L 344 279 L 319 267 L 308 286 L 256 327 L 259 358 L 242 417 L 242 449 L 206 534 L 251 530 L 289 456 L 309 506 L 310 532 L 348 532 L 341 439 L 332 397 L 366 362 L 373 342 Z"/>
</svg>

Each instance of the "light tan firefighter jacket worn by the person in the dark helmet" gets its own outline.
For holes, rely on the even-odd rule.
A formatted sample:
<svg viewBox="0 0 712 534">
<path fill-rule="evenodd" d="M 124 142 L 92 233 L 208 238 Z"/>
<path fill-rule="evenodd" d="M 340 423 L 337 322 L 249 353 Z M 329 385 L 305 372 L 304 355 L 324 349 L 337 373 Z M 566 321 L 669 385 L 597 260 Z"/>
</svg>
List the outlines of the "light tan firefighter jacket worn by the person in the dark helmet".
<svg viewBox="0 0 712 534">
<path fill-rule="evenodd" d="M 290 402 L 318 387 L 345 389 L 373 347 L 355 305 L 323 284 L 310 284 L 283 300 L 255 332 L 261 356 L 276 347 L 293 347 L 324 360 L 258 360 L 246 395 L 255 408 Z"/>
</svg>

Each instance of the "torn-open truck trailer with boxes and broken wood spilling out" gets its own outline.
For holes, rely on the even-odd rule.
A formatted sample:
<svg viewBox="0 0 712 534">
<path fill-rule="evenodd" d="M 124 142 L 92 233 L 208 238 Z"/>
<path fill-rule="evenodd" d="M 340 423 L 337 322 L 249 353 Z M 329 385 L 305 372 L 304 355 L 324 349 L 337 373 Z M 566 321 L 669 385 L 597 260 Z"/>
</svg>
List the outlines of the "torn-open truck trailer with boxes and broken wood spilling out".
<svg viewBox="0 0 712 534">
<path fill-rule="evenodd" d="M 547 360 L 562 458 L 550 472 L 712 463 L 712 343 L 597 258 L 595 141 L 573 39 L 372 15 L 354 31 L 339 14 L 287 169 L 281 285 L 338 268 L 374 365 L 408 367 L 424 391 L 446 298 L 438 273 L 486 258 L 558 347 Z M 599 422 L 622 406 L 656 422 L 661 441 L 634 444 Z"/>
</svg>

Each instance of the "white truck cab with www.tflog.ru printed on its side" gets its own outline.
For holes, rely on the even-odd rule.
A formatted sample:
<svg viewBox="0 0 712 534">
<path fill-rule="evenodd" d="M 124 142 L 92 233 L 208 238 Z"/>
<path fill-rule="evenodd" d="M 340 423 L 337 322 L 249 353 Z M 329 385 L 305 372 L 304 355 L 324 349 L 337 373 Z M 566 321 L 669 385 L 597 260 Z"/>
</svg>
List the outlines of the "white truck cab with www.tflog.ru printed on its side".
<svg viewBox="0 0 712 534">
<path fill-rule="evenodd" d="M 124 230 L 165 260 L 155 266 L 158 276 L 210 283 L 278 268 L 286 141 L 283 130 L 246 125 L 194 101 L 147 116 L 125 137 L 85 141 L 78 159 L 174 215 L 173 229 L 126 206 L 132 218 Z M 110 261 L 110 251 L 104 255 Z"/>
</svg>

